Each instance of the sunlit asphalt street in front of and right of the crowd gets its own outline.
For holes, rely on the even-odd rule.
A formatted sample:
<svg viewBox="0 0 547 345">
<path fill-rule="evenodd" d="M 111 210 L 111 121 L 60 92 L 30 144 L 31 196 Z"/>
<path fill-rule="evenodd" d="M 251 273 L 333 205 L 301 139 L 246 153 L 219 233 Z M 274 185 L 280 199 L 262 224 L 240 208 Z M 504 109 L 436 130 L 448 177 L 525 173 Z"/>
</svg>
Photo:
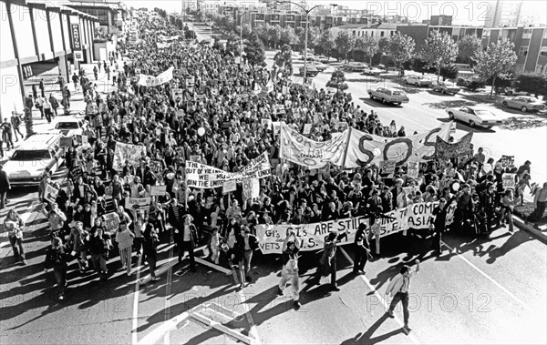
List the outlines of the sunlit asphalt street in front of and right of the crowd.
<svg viewBox="0 0 547 345">
<path fill-rule="evenodd" d="M 209 34 L 208 30 L 203 33 Z M 317 76 L 315 86 L 321 87 L 331 71 Z M 471 102 L 464 96 L 431 95 L 417 89 L 409 95 L 408 105 L 383 107 L 368 100 L 366 82 L 357 80 L 364 76 L 347 74 L 347 78 L 356 79 L 349 82 L 349 91 L 357 104 L 377 110 L 385 121 L 395 118 L 397 126 L 407 127 L 410 133 L 439 126 L 447 119 L 440 105 L 429 105 Z M 459 125 L 458 135 L 469 130 Z M 514 155 L 517 164 L 531 159 L 532 179 L 544 178 L 545 127 L 477 131 L 474 141 L 477 147 L 490 149 L 494 157 Z M 519 142 L 530 143 L 527 147 L 532 150 L 517 149 Z M 60 171 L 58 178 L 62 175 Z M 447 234 L 440 257 L 432 255 L 431 240 L 425 232 L 394 234 L 382 238 L 381 254 L 366 264 L 364 276 L 351 272 L 354 251 L 345 246 L 337 252 L 338 292 L 328 290 L 327 278 L 320 286 L 308 285 L 320 253 L 302 253 L 303 306 L 298 311 L 293 309 L 290 289 L 282 297 L 275 294 L 281 267 L 277 257 L 256 253 L 253 283 L 239 290 L 230 271 L 200 264 L 193 273 L 187 260 L 175 265 L 170 238 L 164 237 L 160 281 L 139 284 L 148 269 L 134 269 L 128 277 L 116 257 L 108 261 L 113 275 L 100 283 L 95 274 L 80 276 L 73 261 L 67 299 L 58 301 L 53 277 L 43 269 L 48 238 L 46 219 L 32 201 L 36 190 L 12 191 L 9 197 L 11 206 L 25 215 L 32 228 L 26 233 L 26 266 L 14 263 L 6 238 L 1 238 L 3 344 L 218 344 L 238 339 L 287 344 L 547 343 L 547 249 L 545 243 L 525 231 L 510 233 L 500 228 L 490 238 Z M 5 210 L 0 217 L 5 217 Z M 411 280 L 412 331 L 407 334 L 402 330 L 400 305 L 396 318 L 387 318 L 390 299 L 385 290 L 401 265 L 416 259 L 421 261 L 421 270 Z M 138 260 L 133 260 L 137 265 Z"/>
</svg>

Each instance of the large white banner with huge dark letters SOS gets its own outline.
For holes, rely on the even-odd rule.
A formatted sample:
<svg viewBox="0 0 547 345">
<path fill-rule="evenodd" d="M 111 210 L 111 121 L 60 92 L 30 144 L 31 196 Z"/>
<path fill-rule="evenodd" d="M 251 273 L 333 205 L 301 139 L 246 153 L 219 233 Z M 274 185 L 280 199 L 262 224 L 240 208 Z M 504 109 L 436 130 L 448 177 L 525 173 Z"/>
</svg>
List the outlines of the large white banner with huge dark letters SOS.
<svg viewBox="0 0 547 345">
<path fill-rule="evenodd" d="M 424 134 L 394 138 L 379 137 L 352 128 L 346 159 L 341 159 L 335 165 L 353 168 L 379 164 L 382 160 L 395 160 L 397 164 L 404 164 L 408 160 L 432 160 L 435 158 L 436 137 L 448 140 L 451 124 L 442 124 Z"/>
</svg>

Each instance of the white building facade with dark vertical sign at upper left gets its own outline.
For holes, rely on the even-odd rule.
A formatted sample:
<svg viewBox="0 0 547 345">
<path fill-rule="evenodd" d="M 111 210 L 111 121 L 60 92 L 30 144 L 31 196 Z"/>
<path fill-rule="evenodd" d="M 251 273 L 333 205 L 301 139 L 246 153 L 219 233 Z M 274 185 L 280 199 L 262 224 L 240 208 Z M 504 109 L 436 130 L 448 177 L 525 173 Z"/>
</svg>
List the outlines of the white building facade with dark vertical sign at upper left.
<svg viewBox="0 0 547 345">
<path fill-rule="evenodd" d="M 71 63 L 91 62 L 97 17 L 53 3 L 0 0 L 0 117 L 22 113 L 29 66 L 57 65 L 69 81 Z M 75 59 L 76 56 L 76 59 Z"/>
</svg>

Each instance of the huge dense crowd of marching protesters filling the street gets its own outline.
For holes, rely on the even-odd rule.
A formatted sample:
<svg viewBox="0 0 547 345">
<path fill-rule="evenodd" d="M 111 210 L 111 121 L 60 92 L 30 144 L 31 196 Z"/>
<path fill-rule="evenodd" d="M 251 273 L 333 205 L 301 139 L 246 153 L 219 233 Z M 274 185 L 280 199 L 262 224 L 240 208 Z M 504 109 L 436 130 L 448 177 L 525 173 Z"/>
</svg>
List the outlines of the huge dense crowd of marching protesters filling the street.
<svg viewBox="0 0 547 345">
<path fill-rule="evenodd" d="M 121 52 L 109 56 L 109 66 L 107 62 L 98 64 L 97 70 L 101 65 L 105 71 L 117 70 L 117 77 L 112 78 L 115 91 L 101 95 L 85 72 L 73 79 L 88 103 L 88 128 L 83 133 L 88 143 L 67 149 L 65 161 L 71 172 L 66 186 L 53 183 L 49 174 L 40 183 L 52 241 L 46 269 L 55 273 L 59 299 L 65 296 L 67 267 L 73 259 L 82 274 L 93 269 L 100 279 L 108 279 L 114 266 L 108 261 L 116 252 L 129 276 L 136 254 L 138 262 L 148 263 L 151 280 L 158 279 L 155 269 L 160 241 L 174 241 L 180 262 L 188 253 L 191 271 L 196 269 L 194 249 L 207 246 L 214 264 L 227 264 L 239 271 L 243 288 L 244 282 L 252 281 L 258 224 L 306 224 L 379 215 L 412 203 L 439 201 L 431 219 L 438 252 L 441 233 L 446 231 L 446 208 L 452 202 L 457 207 L 450 230 L 488 234 L 507 222 L 513 231 L 512 208 L 521 200 L 524 188 L 532 188 L 530 162 L 511 170 L 487 159 L 480 148 L 465 159 L 421 163 L 418 178 L 409 178 L 404 166 L 387 177 L 374 164 L 351 172 L 333 166 L 307 169 L 288 164 L 279 159 L 279 137 L 263 119 L 268 123 L 283 120 L 299 131 L 304 124 L 314 124 L 308 137 L 318 141 L 341 131 L 337 126 L 341 122 L 385 137 L 404 137 L 405 129 L 397 128 L 395 122 L 384 126 L 374 112 L 355 107 L 348 94 L 310 90 L 262 66 L 236 64 L 222 49 L 182 39 L 158 49 L 160 30 L 165 36 L 181 35 L 163 22 L 143 21 L 141 43 L 123 49 L 127 56 L 123 66 L 117 67 L 116 55 Z M 174 77 L 169 83 L 139 86 L 139 74 L 157 76 L 170 66 Z M 87 82 L 78 84 L 81 78 Z M 263 86 L 267 92 L 255 92 Z M 283 105 L 284 112 L 275 114 L 271 110 L 274 105 Z M 293 114 L 294 108 L 300 109 L 298 116 Z M 146 147 L 146 154 L 116 167 L 117 142 Z M 260 179 L 258 198 L 243 199 L 241 188 L 222 194 L 222 188 L 185 186 L 184 166 L 190 157 L 237 172 L 263 152 L 269 155 L 272 176 Z M 503 188 L 501 176 L 506 171 L 517 173 L 514 191 Z M 59 189 L 55 200 L 46 196 L 48 184 Z M 151 196 L 151 188 L 159 185 L 166 186 L 165 195 Z M 414 188 L 408 192 L 407 187 Z M 126 208 L 127 198 L 150 198 L 150 206 L 137 211 Z M 538 210 L 531 221 L 542 218 L 546 198 L 547 184 L 534 194 Z M 109 228 L 104 218 L 110 212 L 118 215 L 117 228 Z M 10 211 L 5 225 L 15 256 L 24 260 L 21 229 L 25 224 Z M 285 283 L 292 281 L 297 306 L 298 240 L 294 233 L 288 235 L 279 290 L 283 292 Z M 315 276 L 319 280 L 332 274 L 333 289 L 337 289 L 335 247 L 343 235 L 325 238 L 324 258 Z M 366 227 L 357 231 L 356 274 L 364 273 L 370 236 Z"/>
</svg>

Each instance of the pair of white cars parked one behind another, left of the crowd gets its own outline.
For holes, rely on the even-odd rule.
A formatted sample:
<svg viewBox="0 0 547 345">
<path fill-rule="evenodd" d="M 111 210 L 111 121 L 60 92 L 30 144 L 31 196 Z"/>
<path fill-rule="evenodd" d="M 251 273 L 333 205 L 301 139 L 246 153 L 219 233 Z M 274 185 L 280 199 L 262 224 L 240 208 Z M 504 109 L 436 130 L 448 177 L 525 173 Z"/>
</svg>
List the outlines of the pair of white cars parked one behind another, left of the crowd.
<svg viewBox="0 0 547 345">
<path fill-rule="evenodd" d="M 65 160 L 61 138 L 76 140 L 82 136 L 87 122 L 81 117 L 57 117 L 53 129 L 27 137 L 4 164 L 12 186 L 37 186 L 46 169 L 55 174 Z"/>
</svg>

